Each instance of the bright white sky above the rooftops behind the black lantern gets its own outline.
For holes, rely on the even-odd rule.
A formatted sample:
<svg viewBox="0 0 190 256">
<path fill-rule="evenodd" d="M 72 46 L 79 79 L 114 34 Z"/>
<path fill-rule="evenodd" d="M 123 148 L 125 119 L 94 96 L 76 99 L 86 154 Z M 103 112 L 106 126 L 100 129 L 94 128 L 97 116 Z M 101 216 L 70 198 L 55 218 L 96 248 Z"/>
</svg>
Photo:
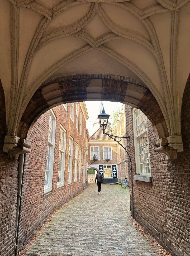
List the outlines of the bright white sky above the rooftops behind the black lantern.
<svg viewBox="0 0 190 256">
<path fill-rule="evenodd" d="M 102 101 L 103 106 L 105 109 L 105 112 L 108 115 L 111 115 L 111 113 L 118 107 L 122 107 L 122 103 L 120 102 L 111 102 L 111 101 Z M 100 103 L 101 101 L 86 101 L 86 107 L 88 111 L 89 119 L 87 120 L 86 127 L 89 131 L 90 136 L 95 132 L 93 129 L 93 123 L 96 122 L 97 117 L 100 113 Z"/>
</svg>

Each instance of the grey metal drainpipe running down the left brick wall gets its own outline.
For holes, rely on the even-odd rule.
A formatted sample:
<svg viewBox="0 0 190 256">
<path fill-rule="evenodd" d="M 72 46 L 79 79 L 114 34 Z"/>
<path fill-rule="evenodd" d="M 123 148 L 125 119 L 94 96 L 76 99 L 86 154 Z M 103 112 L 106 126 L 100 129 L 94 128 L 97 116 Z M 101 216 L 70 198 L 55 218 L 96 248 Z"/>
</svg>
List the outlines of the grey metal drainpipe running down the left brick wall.
<svg viewBox="0 0 190 256">
<path fill-rule="evenodd" d="M 19 214 L 20 214 L 20 202 L 21 202 L 21 190 L 22 190 L 22 174 L 24 166 L 24 157 L 25 154 L 20 154 L 19 163 L 18 163 L 18 191 L 17 191 L 17 209 L 16 209 L 16 228 L 15 228 L 15 245 L 14 245 L 14 255 L 17 253 L 17 235 L 18 235 L 18 223 L 19 223 Z"/>
</svg>

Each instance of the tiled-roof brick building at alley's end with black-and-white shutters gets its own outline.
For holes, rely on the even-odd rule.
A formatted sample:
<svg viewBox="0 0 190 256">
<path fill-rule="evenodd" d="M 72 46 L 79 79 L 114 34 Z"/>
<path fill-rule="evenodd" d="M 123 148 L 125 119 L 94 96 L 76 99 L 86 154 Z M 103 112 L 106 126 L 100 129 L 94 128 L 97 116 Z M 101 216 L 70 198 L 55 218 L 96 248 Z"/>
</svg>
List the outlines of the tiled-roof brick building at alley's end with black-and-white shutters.
<svg viewBox="0 0 190 256">
<path fill-rule="evenodd" d="M 114 130 L 110 130 L 110 123 L 106 128 L 106 133 L 112 136 L 124 136 L 125 135 L 125 118 L 124 109 L 119 113 L 119 117 L 114 126 Z M 99 121 L 94 123 L 98 129 L 89 138 L 89 160 L 91 163 L 88 165 L 88 169 L 94 169 L 96 175 L 97 171 L 103 175 L 104 183 L 114 183 L 128 177 L 128 164 L 125 150 L 112 138 L 103 134 L 102 129 L 99 126 Z M 126 141 L 124 141 L 126 143 Z M 93 161 L 93 155 L 96 155 L 96 161 Z M 93 175 L 90 175 L 93 178 Z M 94 178 L 93 178 L 94 180 Z"/>
</svg>

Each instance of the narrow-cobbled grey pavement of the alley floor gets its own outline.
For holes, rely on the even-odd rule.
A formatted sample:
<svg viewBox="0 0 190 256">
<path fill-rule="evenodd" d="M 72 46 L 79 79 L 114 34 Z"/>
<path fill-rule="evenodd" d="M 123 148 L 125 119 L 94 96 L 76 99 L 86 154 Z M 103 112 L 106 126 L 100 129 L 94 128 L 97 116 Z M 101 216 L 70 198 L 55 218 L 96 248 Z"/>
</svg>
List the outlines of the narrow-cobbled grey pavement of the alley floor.
<svg viewBox="0 0 190 256">
<path fill-rule="evenodd" d="M 129 190 L 95 183 L 56 212 L 25 256 L 158 256 L 132 225 Z"/>
</svg>

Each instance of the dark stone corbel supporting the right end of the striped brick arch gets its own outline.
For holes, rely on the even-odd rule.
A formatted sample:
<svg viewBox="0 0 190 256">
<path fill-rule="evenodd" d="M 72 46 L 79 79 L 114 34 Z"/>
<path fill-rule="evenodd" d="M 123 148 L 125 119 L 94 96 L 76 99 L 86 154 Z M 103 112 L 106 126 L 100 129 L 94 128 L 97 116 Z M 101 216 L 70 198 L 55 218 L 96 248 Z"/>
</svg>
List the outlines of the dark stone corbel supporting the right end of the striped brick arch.
<svg viewBox="0 0 190 256">
<path fill-rule="evenodd" d="M 167 138 L 159 139 L 154 142 L 155 152 L 164 153 L 166 155 L 166 159 L 176 159 L 177 151 L 173 147 L 168 145 Z"/>
</svg>

